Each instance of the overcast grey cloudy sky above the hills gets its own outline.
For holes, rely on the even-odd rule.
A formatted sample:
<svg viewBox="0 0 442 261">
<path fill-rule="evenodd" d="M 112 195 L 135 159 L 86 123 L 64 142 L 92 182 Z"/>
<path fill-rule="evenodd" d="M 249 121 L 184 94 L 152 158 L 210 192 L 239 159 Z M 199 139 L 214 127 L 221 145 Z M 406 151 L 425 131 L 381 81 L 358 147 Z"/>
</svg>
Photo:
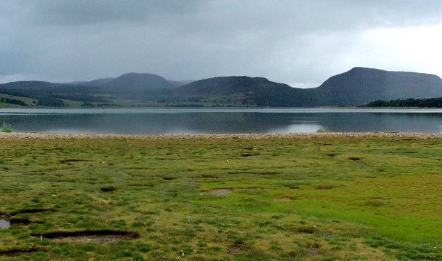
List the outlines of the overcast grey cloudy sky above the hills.
<svg viewBox="0 0 442 261">
<path fill-rule="evenodd" d="M 354 67 L 442 76 L 440 0 L 0 0 L 0 83 L 265 77 Z"/>
</svg>

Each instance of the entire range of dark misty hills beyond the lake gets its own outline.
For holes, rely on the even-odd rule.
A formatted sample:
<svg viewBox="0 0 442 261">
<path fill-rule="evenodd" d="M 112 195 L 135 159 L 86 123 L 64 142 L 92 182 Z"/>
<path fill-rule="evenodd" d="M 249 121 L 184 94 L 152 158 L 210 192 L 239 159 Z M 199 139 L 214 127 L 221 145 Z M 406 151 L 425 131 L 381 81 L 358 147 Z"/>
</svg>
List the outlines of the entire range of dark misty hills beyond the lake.
<svg viewBox="0 0 442 261">
<path fill-rule="evenodd" d="M 121 106 L 116 102 L 121 99 L 129 100 L 123 106 L 358 106 L 374 100 L 442 97 L 442 80 L 432 74 L 353 68 L 317 88 L 302 89 L 262 77 L 168 81 L 156 74 L 127 73 L 69 84 L 16 81 L 0 84 L 1 93 L 37 99 L 37 105 L 46 104 L 42 106 L 54 100 Z"/>
</svg>

